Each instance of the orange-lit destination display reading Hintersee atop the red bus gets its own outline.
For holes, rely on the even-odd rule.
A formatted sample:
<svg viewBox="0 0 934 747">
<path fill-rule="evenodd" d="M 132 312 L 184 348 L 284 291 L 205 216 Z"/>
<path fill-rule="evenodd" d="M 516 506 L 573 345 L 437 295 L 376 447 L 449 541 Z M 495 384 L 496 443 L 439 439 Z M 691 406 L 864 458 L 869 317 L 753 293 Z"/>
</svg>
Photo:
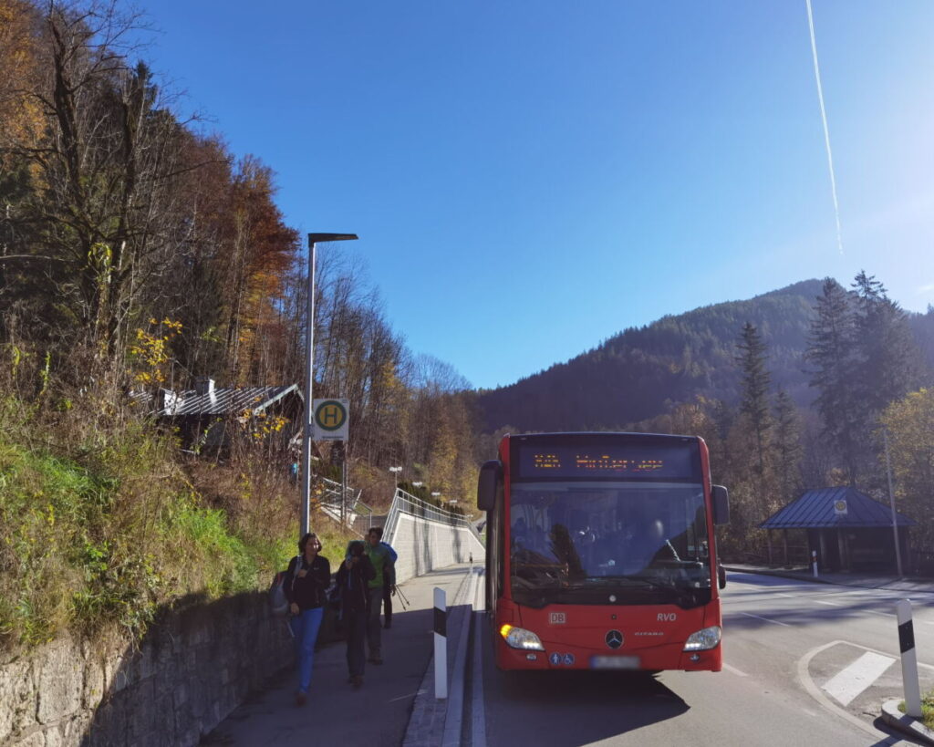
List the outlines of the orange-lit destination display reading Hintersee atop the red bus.
<svg viewBox="0 0 934 747">
<path fill-rule="evenodd" d="M 697 450 L 690 445 L 628 447 L 598 445 L 519 446 L 518 477 L 622 477 L 700 481 Z"/>
</svg>

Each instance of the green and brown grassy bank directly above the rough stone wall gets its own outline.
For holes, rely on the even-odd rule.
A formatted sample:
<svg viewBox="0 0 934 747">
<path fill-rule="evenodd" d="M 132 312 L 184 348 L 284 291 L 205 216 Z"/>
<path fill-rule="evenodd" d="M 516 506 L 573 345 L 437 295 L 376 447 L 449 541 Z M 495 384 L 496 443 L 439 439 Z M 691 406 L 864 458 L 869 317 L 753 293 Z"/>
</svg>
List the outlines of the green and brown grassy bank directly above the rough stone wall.
<svg viewBox="0 0 934 747">
<path fill-rule="evenodd" d="M 263 589 L 294 555 L 297 497 L 268 463 L 186 465 L 149 424 L 97 415 L 0 399 L 0 650 L 139 637 L 179 599 Z M 351 537 L 315 519 L 343 557 Z"/>
</svg>

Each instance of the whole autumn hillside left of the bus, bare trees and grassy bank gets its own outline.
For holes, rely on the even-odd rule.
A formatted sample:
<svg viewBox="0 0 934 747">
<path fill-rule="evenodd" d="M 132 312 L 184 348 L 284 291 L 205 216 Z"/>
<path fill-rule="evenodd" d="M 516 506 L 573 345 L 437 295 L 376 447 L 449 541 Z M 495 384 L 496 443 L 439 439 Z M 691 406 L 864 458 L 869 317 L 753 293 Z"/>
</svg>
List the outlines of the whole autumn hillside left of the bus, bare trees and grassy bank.
<svg viewBox="0 0 934 747">
<path fill-rule="evenodd" d="M 198 377 L 302 382 L 307 324 L 275 174 L 179 111 L 145 27 L 129 4 L 0 0 L 4 650 L 138 636 L 163 609 L 262 589 L 295 552 L 298 423 L 231 413 L 233 443 L 209 452 L 156 415 Z M 350 401 L 351 485 L 377 511 L 397 477 L 472 503 L 469 385 L 405 347 L 341 256 L 319 255 L 315 392 Z M 347 530 L 320 513 L 313 529 L 339 558 Z"/>
</svg>

